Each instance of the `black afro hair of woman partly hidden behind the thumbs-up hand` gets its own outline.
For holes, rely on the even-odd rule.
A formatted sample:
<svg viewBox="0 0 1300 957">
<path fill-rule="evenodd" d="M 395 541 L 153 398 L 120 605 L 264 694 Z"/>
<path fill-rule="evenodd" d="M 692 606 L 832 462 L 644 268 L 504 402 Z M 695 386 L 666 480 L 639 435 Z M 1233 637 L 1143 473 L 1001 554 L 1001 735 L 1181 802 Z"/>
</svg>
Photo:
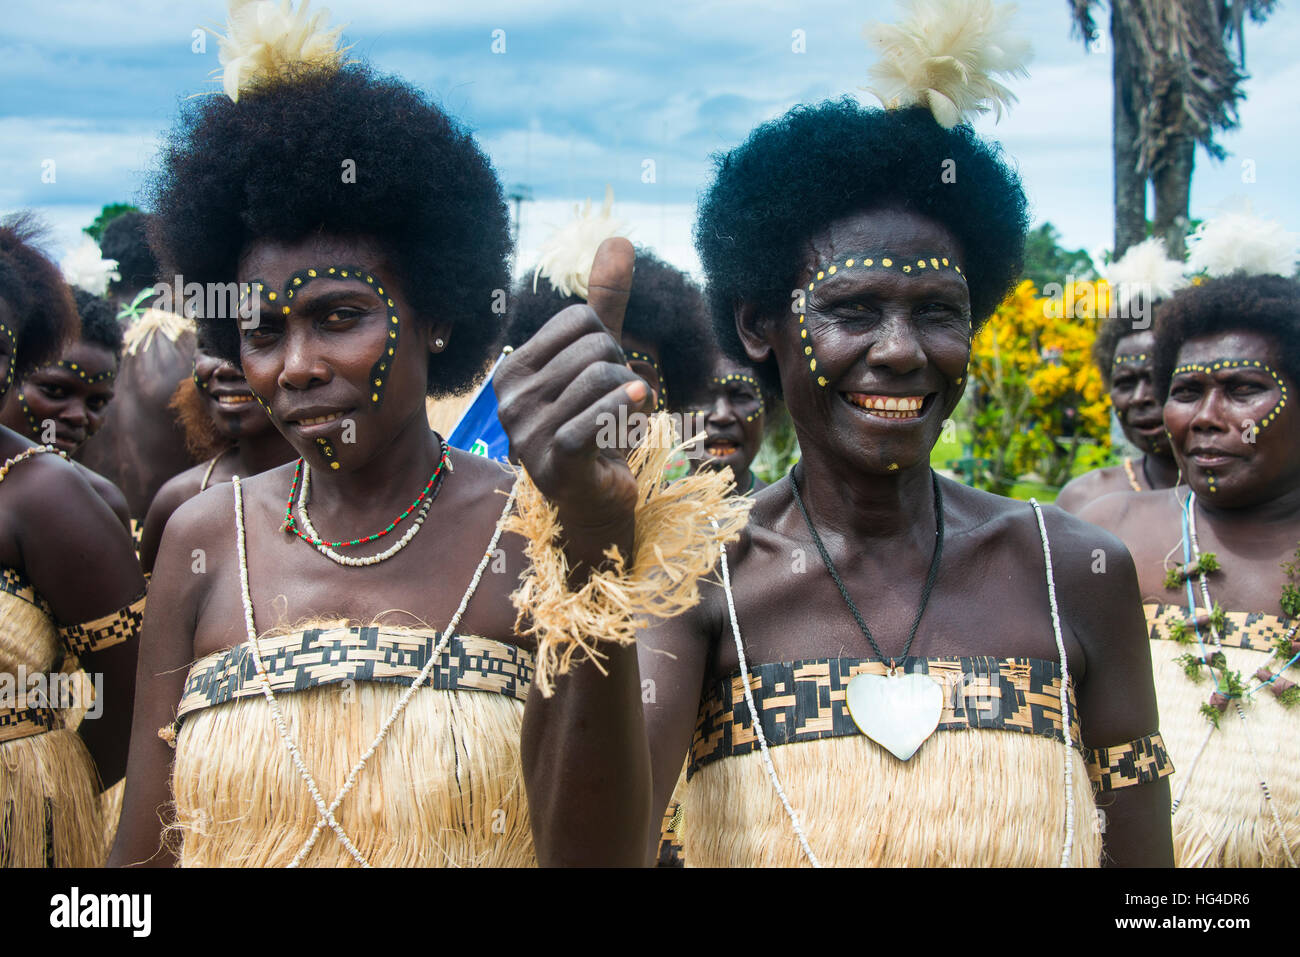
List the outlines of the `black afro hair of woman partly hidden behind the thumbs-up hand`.
<svg viewBox="0 0 1300 957">
<path fill-rule="evenodd" d="M 681 269 L 644 247 L 638 246 L 636 254 L 636 273 L 623 332 L 658 346 L 667 400 L 677 391 L 677 382 L 708 374 L 707 306 L 699 287 Z M 529 270 L 515 287 L 510 343 L 523 346 L 556 312 L 584 302 L 577 295 L 560 295 L 542 277 L 537 280 L 537 291 L 533 291 L 533 273 Z"/>
</svg>

